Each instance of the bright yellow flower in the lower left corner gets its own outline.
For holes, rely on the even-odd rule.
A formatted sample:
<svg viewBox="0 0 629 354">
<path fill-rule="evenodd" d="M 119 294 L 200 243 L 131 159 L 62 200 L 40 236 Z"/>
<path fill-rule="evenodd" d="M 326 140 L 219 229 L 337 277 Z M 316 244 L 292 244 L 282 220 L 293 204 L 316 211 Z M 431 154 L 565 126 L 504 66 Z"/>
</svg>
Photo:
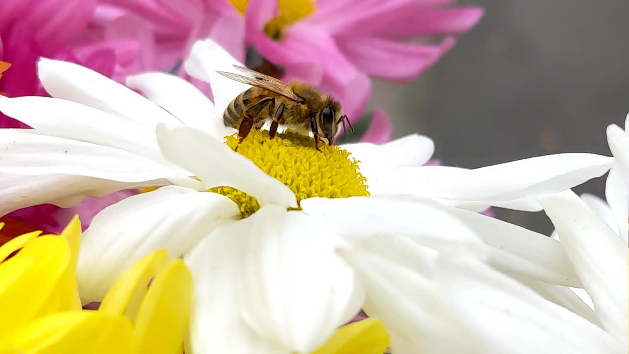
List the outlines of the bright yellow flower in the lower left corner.
<svg viewBox="0 0 629 354">
<path fill-rule="evenodd" d="M 118 278 L 101 309 L 82 310 L 79 219 L 60 236 L 40 233 L 0 247 L 0 353 L 182 353 L 192 294 L 182 260 L 167 262 L 165 249 L 149 254 Z"/>
</svg>

